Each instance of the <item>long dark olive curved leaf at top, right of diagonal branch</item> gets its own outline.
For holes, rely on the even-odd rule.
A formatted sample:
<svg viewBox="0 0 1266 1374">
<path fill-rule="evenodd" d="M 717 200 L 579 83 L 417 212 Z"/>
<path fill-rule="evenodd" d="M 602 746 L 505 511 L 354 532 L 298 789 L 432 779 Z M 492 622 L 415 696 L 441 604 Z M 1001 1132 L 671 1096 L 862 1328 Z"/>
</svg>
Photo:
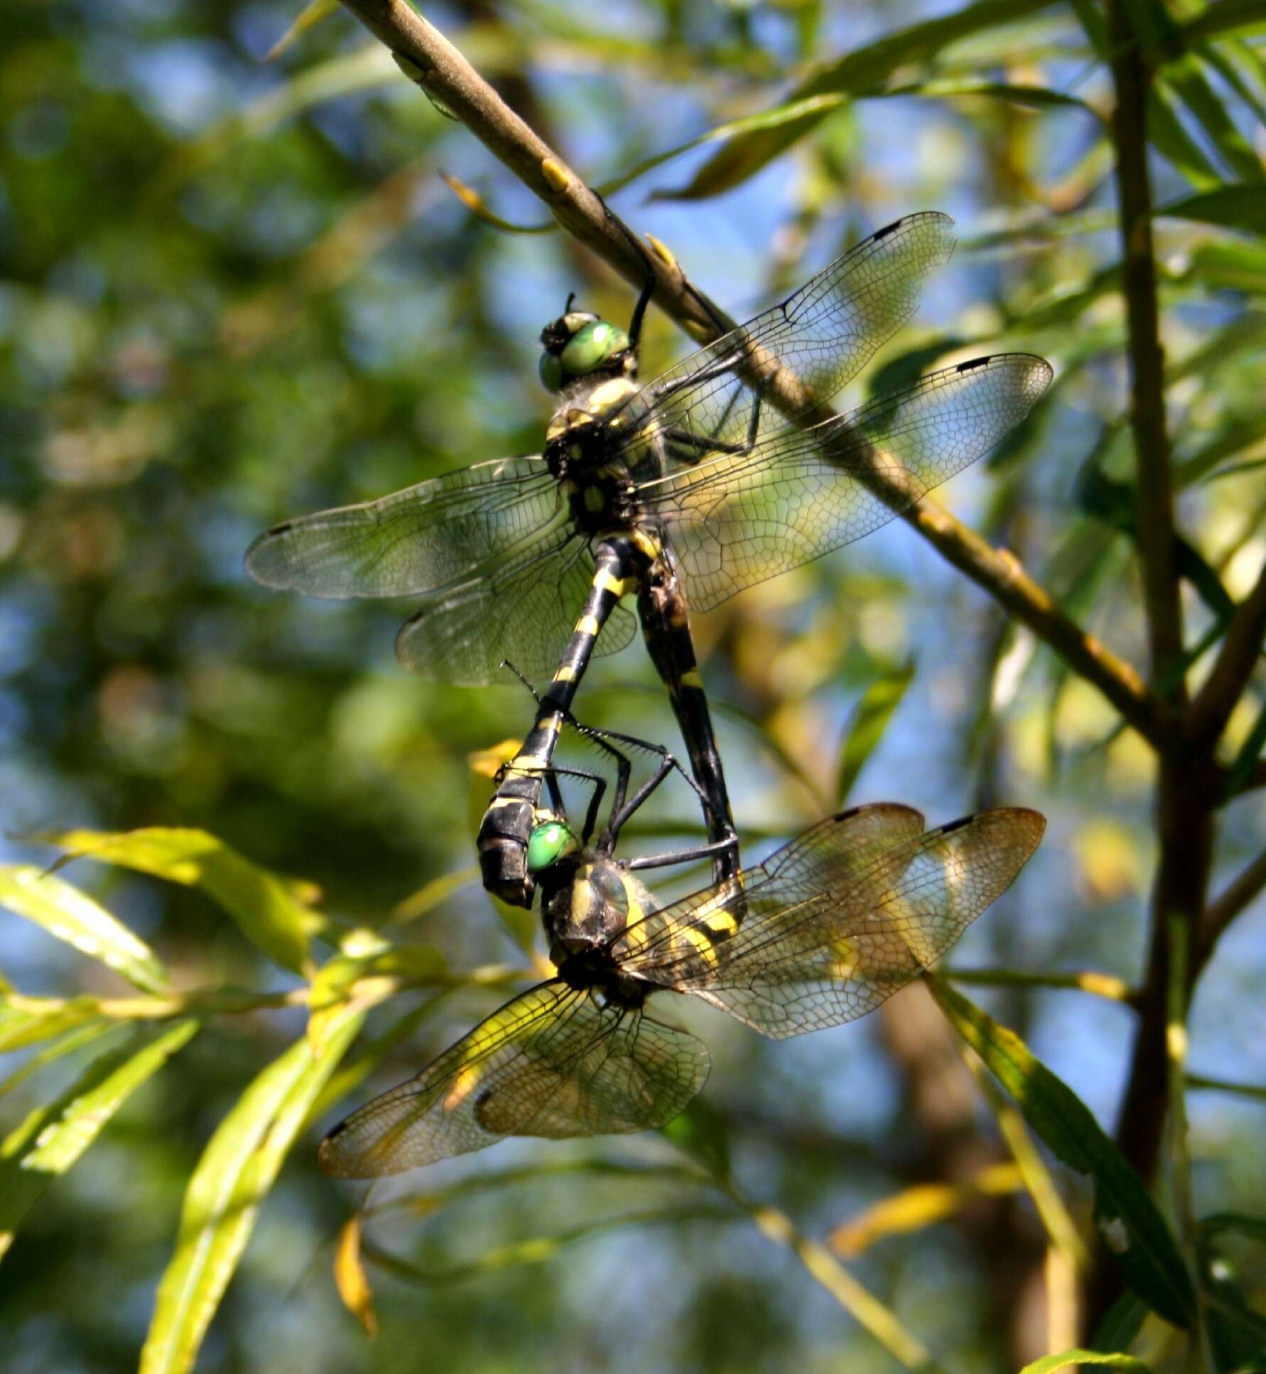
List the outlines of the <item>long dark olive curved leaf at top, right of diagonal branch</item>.
<svg viewBox="0 0 1266 1374">
<path fill-rule="evenodd" d="M 954 14 L 898 29 L 852 49 L 839 62 L 821 69 L 790 92 L 782 109 L 795 107 L 818 96 L 874 95 L 880 82 L 913 62 L 929 62 L 943 48 L 984 29 L 1012 23 L 1049 8 L 1053 0 L 976 0 Z M 687 187 L 661 192 L 663 198 L 700 199 L 719 195 L 755 176 L 793 143 L 806 137 L 825 120 L 836 103 L 808 111 L 773 129 L 753 129 L 733 139 L 696 172 Z"/>
</svg>

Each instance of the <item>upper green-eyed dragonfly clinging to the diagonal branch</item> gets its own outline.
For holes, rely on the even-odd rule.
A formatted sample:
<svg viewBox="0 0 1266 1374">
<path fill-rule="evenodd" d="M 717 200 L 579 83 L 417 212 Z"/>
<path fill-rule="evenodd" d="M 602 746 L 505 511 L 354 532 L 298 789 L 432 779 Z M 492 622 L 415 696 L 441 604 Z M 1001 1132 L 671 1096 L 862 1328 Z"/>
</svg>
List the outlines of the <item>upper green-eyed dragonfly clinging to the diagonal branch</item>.
<svg viewBox="0 0 1266 1374">
<path fill-rule="evenodd" d="M 268 587 L 421 598 L 396 651 L 427 677 L 495 682 L 504 660 L 536 680 L 553 673 L 480 826 L 489 890 L 532 904 L 543 771 L 590 660 L 634 635 L 625 596 L 709 815 L 729 816 L 689 606 L 709 610 L 887 523 L 988 452 L 1046 389 L 1047 363 L 1002 353 L 810 423 L 914 313 L 951 228 L 926 212 L 878 229 L 645 385 L 650 286 L 628 330 L 569 298 L 542 333 L 540 376 L 558 397 L 542 453 L 289 519 L 250 547 L 246 569 Z M 718 878 L 734 864 L 720 855 Z"/>
</svg>

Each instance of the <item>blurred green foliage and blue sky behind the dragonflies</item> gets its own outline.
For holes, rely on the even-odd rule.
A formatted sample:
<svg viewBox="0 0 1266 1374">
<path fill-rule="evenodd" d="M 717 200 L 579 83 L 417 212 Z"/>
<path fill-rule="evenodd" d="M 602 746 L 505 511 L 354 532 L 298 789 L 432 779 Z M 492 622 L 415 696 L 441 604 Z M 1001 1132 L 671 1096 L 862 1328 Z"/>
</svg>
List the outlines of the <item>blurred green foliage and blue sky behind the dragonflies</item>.
<svg viewBox="0 0 1266 1374">
<path fill-rule="evenodd" d="M 1266 558 L 1266 11 L 1126 8 L 1156 69 L 1166 419 L 1199 684 Z M 955 257 L 851 400 L 983 352 L 1049 357 L 1057 382 L 1032 420 L 937 496 L 1146 671 L 1098 5 L 509 0 L 427 16 L 595 185 L 727 121 L 815 98 L 784 110 L 764 142 L 702 143 L 612 196 L 738 317 L 881 224 L 951 213 Z M 513 683 L 408 677 L 392 657 L 407 605 L 269 595 L 241 556 L 285 515 L 536 451 L 550 405 L 536 381 L 542 324 L 569 290 L 612 319 L 634 293 L 558 234 L 473 216 L 441 172 L 507 221 L 547 218 L 351 15 L 313 7 L 319 22 L 268 60 L 296 18 L 272 0 L 7 11 L 0 857 L 49 863 L 58 851 L 33 840 L 48 833 L 184 827 L 304 883 L 231 860 L 199 870 L 219 886 L 133 871 L 179 877 L 170 852 L 59 874 L 161 956 L 166 984 L 118 932 L 102 962 L 85 958 L 102 952 L 91 940 L 76 949 L 38 919 L 0 918 L 0 1044 L 14 1076 L 0 1153 L 25 1149 L 26 1114 L 93 1057 L 117 1055 L 128 1080 L 114 1092 L 107 1079 L 109 1127 L 23 1213 L 0 1264 L 5 1369 L 133 1367 L 191 1172 L 243 1090 L 294 1047 L 326 1062 L 296 1061 L 269 1090 L 290 1094 L 290 1135 L 274 1123 L 263 1142 L 276 1157 L 256 1180 L 257 1219 L 239 1217 L 249 1246 L 201 1370 L 899 1367 L 841 1311 L 828 1250 L 947 1369 L 1012 1369 L 1074 1344 L 1085 1294 L 1061 1281 L 1058 1246 L 1006 1172 L 997 1116 L 922 988 L 866 1022 L 777 1046 L 691 1017 L 715 1068 L 675 1138 L 507 1143 L 379 1190 L 374 1202 L 399 1205 L 366 1234 L 414 1268 L 370 1267 L 374 1342 L 340 1304 L 330 1263 L 356 1200 L 318 1173 L 319 1131 L 338 1102 L 415 1072 L 532 976 L 525 927 L 499 921 L 478 888 L 473 826 L 489 783 L 471 767 L 522 732 L 531 702 Z M 647 375 L 683 348 L 653 311 Z M 910 528 L 752 589 L 696 631 L 751 859 L 845 800 L 899 800 L 933 823 L 1036 807 L 1050 818 L 1041 851 L 951 965 L 1039 984 L 1082 970 L 1144 977 L 1152 750 Z M 579 713 L 676 747 L 661 698 L 632 646 L 591 669 Z M 1266 808 L 1245 786 L 1262 699 L 1259 671 L 1221 746 L 1240 790 L 1219 809 L 1214 893 L 1262 849 Z M 668 791 L 643 846 L 697 831 L 689 793 Z M 1250 900 L 1262 881 L 1200 977 L 1195 1074 L 1266 1083 L 1266 905 Z M 669 878 L 658 888 L 674 890 Z M 386 926 L 404 951 L 403 991 L 368 1011 L 368 1040 L 346 1061 L 356 1072 L 324 1090 L 359 1020 L 330 977 L 324 1020 L 305 1029 L 302 960 L 267 958 L 258 927 L 243 937 L 252 901 L 274 903 L 286 929 L 319 910 L 330 923 L 312 915 L 318 962 L 353 927 Z M 220 1000 L 143 1002 L 165 987 Z M 245 989 L 239 1003 L 228 988 Z M 1119 998 L 968 991 L 1113 1127 L 1135 1021 Z M 1261 1113 L 1243 1092 L 1188 1103 L 1193 1215 L 1240 1217 L 1217 1234 L 1225 1300 L 1243 1308 L 1214 1352 L 1226 1369 L 1266 1367 L 1248 1363 L 1263 1348 L 1252 1308 L 1266 1305 L 1266 1261 L 1244 1221 L 1266 1194 Z M 729 1194 L 682 1175 L 698 1160 L 719 1169 L 722 1156 Z M 1060 1165 L 1054 1176 L 1089 1238 L 1089 1187 Z M 914 1186 L 947 1187 L 911 1201 Z M 893 1197 L 906 1200 L 900 1224 L 892 1213 L 852 1224 Z M 826 1246 L 819 1272 L 795 1235 Z M 231 1270 L 225 1260 L 220 1278 Z M 198 1292 L 191 1282 L 186 1296 Z M 1157 1367 L 1179 1359 L 1173 1330 L 1149 1322 L 1135 1349 Z M 146 1367 L 187 1367 L 195 1351 L 197 1340 L 173 1351 L 151 1336 Z"/>
</svg>

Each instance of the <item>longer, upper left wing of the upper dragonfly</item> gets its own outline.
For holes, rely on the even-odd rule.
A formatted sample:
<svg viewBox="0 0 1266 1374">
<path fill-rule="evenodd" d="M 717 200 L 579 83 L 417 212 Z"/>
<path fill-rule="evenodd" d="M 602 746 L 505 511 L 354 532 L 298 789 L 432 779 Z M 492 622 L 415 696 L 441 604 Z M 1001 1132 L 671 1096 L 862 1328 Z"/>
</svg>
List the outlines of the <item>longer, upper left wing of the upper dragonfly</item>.
<svg viewBox="0 0 1266 1374">
<path fill-rule="evenodd" d="M 499 458 L 283 521 L 246 551 L 246 572 L 308 596 L 412 596 L 488 572 L 566 521 L 543 458 Z"/>
</svg>

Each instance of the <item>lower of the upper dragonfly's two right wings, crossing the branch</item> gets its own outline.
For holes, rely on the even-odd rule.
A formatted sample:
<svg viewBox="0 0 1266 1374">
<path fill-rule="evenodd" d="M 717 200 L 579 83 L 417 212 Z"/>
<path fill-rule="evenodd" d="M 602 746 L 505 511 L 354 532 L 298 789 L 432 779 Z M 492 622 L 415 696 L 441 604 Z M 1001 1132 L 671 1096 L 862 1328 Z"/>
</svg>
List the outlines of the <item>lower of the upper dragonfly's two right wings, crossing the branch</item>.
<svg viewBox="0 0 1266 1374">
<path fill-rule="evenodd" d="M 639 499 L 669 529 L 690 603 L 709 610 L 887 525 L 987 453 L 1052 375 L 1030 353 L 959 363 L 814 429 L 647 482 Z"/>
</svg>

